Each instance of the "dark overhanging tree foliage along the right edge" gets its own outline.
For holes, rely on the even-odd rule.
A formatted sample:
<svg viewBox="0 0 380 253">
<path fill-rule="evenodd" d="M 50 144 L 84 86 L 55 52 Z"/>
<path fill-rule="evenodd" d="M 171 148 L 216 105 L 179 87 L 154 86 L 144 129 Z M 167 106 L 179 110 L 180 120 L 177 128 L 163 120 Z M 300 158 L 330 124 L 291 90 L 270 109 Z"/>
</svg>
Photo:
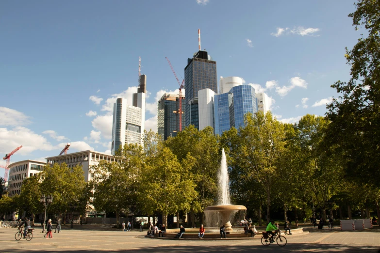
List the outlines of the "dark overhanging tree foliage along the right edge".
<svg viewBox="0 0 380 253">
<path fill-rule="evenodd" d="M 348 50 L 351 78 L 337 81 L 332 88 L 339 93 L 328 105 L 330 144 L 338 144 L 345 158 L 347 176 L 380 186 L 380 1 L 358 0 L 349 14 L 353 26 L 366 29 L 358 43 Z"/>
</svg>

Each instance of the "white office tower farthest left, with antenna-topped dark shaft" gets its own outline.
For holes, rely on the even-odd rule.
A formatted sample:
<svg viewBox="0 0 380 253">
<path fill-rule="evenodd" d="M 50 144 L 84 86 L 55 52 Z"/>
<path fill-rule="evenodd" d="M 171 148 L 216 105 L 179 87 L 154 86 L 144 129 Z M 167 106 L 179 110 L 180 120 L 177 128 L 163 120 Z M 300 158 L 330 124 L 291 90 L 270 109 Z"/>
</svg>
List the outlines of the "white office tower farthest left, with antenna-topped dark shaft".
<svg viewBox="0 0 380 253">
<path fill-rule="evenodd" d="M 139 93 L 137 93 L 139 95 Z M 143 94 L 144 103 L 142 104 L 145 111 L 145 94 Z M 112 142 L 111 153 L 120 145 L 125 143 L 142 144 L 142 134 L 144 133 L 145 116 L 142 108 L 127 104 L 127 100 L 117 98 L 114 103 L 114 117 L 112 123 Z"/>
</svg>

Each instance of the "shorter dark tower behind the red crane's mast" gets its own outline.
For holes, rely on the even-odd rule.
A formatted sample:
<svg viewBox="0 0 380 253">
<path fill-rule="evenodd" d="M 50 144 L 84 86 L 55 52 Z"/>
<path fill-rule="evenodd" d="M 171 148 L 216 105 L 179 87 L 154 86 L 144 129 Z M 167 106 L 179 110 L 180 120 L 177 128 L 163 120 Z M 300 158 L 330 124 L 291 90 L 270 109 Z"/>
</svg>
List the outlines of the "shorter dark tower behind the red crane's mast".
<svg viewBox="0 0 380 253">
<path fill-rule="evenodd" d="M 179 98 L 180 95 L 165 93 L 158 101 L 157 129 L 164 140 L 169 136 L 175 137 L 180 131 Z M 184 103 L 185 99 L 182 95 L 182 108 L 184 108 Z M 182 112 L 182 122 L 183 119 Z"/>
</svg>

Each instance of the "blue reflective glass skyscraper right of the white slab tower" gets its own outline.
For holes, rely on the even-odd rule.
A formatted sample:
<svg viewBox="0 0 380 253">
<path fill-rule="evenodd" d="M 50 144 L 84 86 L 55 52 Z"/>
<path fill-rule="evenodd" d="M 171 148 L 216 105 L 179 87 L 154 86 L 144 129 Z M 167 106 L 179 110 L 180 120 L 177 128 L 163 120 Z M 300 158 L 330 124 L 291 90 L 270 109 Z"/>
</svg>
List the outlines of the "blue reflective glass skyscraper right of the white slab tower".
<svg viewBox="0 0 380 253">
<path fill-rule="evenodd" d="M 244 126 L 244 115 L 258 111 L 255 89 L 251 85 L 238 85 L 228 93 L 214 96 L 215 134 L 221 135 L 232 126 Z"/>
</svg>

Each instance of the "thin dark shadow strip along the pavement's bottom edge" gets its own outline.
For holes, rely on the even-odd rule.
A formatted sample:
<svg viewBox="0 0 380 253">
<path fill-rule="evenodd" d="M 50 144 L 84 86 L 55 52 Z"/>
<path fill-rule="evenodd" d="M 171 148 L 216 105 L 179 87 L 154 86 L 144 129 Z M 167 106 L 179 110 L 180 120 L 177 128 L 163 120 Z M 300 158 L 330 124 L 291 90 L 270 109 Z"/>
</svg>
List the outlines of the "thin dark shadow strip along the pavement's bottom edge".
<svg viewBox="0 0 380 253">
<path fill-rule="evenodd" d="M 133 246 L 132 246 L 133 247 Z M 62 253 L 62 252 L 76 252 L 76 253 L 100 253 L 105 250 L 78 250 L 63 248 L 62 250 L 49 249 L 44 251 L 30 250 L 29 252 L 49 252 L 49 253 Z M 108 250 L 110 252 L 131 252 L 131 253 L 197 253 L 197 252 L 233 252 L 233 253 L 245 253 L 245 252 L 313 252 L 313 253 L 330 253 L 330 252 L 345 252 L 345 253 L 377 253 L 379 247 L 375 246 L 363 246 L 363 245 L 347 245 L 347 244 L 288 244 L 285 247 L 279 247 L 276 244 L 265 247 L 263 245 L 254 246 L 169 246 L 163 245 L 161 247 L 144 247 L 140 249 L 119 249 Z M 0 251 L 3 252 L 3 251 Z M 7 251 L 5 251 L 7 252 Z M 15 252 L 25 252 L 25 250 L 12 249 L 9 251 Z"/>
</svg>

